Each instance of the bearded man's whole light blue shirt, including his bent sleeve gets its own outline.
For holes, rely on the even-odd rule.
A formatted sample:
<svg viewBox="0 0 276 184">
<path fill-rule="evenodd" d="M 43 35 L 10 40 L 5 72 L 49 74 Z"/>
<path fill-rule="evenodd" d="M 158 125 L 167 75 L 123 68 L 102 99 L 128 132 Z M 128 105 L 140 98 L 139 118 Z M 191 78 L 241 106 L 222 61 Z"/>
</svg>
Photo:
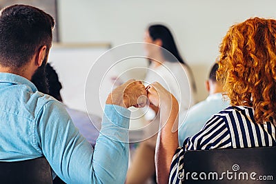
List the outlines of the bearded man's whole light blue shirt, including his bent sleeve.
<svg viewBox="0 0 276 184">
<path fill-rule="evenodd" d="M 0 73 L 0 161 L 45 156 L 66 183 L 124 183 L 130 111 L 106 105 L 95 150 L 62 103 L 27 79 Z"/>
</svg>

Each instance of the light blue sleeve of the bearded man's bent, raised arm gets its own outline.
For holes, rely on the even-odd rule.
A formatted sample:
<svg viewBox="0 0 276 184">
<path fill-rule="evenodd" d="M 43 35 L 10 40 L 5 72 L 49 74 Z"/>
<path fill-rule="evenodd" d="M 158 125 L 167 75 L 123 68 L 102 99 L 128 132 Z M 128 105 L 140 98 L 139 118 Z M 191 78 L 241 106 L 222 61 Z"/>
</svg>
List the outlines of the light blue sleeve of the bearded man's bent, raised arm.
<svg viewBox="0 0 276 184">
<path fill-rule="evenodd" d="M 61 103 L 50 101 L 39 113 L 35 128 L 37 147 L 66 183 L 124 183 L 130 111 L 106 105 L 104 114 L 93 150 Z"/>
</svg>

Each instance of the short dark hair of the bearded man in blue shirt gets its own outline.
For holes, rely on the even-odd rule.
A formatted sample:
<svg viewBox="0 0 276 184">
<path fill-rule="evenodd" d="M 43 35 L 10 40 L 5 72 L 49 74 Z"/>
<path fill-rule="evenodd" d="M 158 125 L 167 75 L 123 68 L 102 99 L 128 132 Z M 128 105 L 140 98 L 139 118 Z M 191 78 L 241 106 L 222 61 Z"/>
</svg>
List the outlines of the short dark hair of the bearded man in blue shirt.
<svg viewBox="0 0 276 184">
<path fill-rule="evenodd" d="M 0 65 L 21 69 L 43 45 L 52 44 L 55 21 L 39 8 L 13 5 L 0 14 Z"/>
</svg>

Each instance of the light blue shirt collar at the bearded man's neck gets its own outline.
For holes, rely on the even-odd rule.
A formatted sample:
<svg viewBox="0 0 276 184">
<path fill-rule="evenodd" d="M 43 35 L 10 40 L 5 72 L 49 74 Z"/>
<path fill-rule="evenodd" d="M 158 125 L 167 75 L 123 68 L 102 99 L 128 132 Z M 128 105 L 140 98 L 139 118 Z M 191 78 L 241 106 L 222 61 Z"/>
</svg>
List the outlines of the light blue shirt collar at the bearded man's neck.
<svg viewBox="0 0 276 184">
<path fill-rule="evenodd" d="M 32 89 L 32 92 L 37 91 L 37 87 L 35 87 L 35 85 L 31 81 L 17 74 L 0 72 L 0 83 L 14 83 L 14 84 L 28 85 L 28 87 Z"/>
</svg>

